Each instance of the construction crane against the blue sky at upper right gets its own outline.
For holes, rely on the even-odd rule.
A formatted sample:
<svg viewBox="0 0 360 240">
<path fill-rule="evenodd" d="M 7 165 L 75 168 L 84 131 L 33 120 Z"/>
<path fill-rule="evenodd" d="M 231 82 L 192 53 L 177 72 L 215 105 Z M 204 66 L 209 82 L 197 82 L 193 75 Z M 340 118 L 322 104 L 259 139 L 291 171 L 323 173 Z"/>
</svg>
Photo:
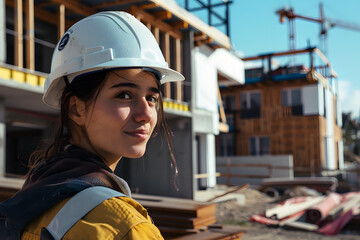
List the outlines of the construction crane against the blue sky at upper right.
<svg viewBox="0 0 360 240">
<path fill-rule="evenodd" d="M 317 22 L 320 24 L 320 41 L 322 45 L 322 51 L 326 55 L 327 52 L 327 32 L 330 28 L 333 27 L 341 27 L 345 29 L 360 31 L 360 25 L 352 24 L 352 23 L 346 23 L 339 20 L 331 20 L 328 18 L 325 18 L 324 9 L 322 3 L 320 3 L 320 18 L 312 18 L 312 17 L 306 17 L 299 14 L 295 14 L 293 8 L 287 8 L 284 7 L 276 13 L 280 16 L 280 22 L 285 22 L 285 17 L 289 20 L 289 48 L 290 50 L 295 50 L 295 19 L 299 18 L 302 20 L 310 21 L 310 22 Z"/>
</svg>

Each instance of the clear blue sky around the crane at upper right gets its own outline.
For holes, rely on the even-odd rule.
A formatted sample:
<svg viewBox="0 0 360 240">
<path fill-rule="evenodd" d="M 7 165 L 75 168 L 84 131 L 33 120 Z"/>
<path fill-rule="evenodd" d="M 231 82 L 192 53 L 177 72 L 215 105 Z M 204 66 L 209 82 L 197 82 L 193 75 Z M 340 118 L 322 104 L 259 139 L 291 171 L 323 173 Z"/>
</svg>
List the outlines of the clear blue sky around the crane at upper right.
<svg viewBox="0 0 360 240">
<path fill-rule="evenodd" d="M 184 6 L 185 0 L 176 1 Z M 230 37 L 235 51 L 246 57 L 288 50 L 288 21 L 281 24 L 276 10 L 289 6 L 296 14 L 320 18 L 320 2 L 326 18 L 360 26 L 360 0 L 233 0 Z M 219 8 L 218 11 L 223 10 Z M 197 15 L 204 17 L 201 12 Z M 296 48 L 306 48 L 308 41 L 312 46 L 321 47 L 318 23 L 296 19 L 295 29 Z M 327 46 L 327 57 L 338 73 L 342 110 L 359 116 L 360 31 L 334 27 L 328 31 Z M 302 62 L 296 59 L 296 63 Z"/>
</svg>

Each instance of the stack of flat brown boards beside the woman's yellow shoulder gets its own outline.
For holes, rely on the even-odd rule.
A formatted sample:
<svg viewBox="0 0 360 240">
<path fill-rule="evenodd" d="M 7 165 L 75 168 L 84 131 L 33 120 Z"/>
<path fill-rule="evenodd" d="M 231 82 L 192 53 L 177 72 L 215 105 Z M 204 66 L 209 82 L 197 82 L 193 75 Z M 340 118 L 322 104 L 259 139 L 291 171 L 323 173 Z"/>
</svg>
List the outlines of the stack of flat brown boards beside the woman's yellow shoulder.
<svg viewBox="0 0 360 240">
<path fill-rule="evenodd" d="M 133 194 L 149 212 L 165 239 L 240 239 L 239 228 L 213 225 L 214 203 L 189 199 Z"/>
</svg>

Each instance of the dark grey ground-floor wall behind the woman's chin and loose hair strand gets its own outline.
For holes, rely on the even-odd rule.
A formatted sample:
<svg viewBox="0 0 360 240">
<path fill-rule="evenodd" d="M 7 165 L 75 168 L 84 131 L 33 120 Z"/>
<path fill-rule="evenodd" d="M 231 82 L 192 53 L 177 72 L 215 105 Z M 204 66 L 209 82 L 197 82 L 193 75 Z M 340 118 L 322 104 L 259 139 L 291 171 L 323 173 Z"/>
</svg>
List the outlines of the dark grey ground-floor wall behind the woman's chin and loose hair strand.
<svg viewBox="0 0 360 240">
<path fill-rule="evenodd" d="M 122 159 L 116 173 L 134 192 L 142 194 L 193 198 L 191 119 L 173 118 L 167 123 L 173 132 L 172 143 L 178 164 L 179 191 L 173 187 L 171 157 L 164 134 L 150 139 L 145 155 L 139 159 Z"/>
</svg>

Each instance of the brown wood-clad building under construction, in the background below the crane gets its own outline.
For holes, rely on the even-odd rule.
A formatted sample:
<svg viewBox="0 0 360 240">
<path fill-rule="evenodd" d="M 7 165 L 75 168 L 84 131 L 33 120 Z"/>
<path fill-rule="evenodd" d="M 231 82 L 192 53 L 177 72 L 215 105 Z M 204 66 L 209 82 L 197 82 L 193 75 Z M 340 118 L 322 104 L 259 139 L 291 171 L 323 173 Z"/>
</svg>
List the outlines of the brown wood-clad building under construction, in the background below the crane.
<svg viewBox="0 0 360 240">
<path fill-rule="evenodd" d="M 309 64 L 275 61 L 293 62 L 299 55 L 308 55 Z M 230 131 L 220 134 L 218 155 L 265 160 L 289 155 L 293 165 L 287 167 L 295 176 L 343 169 L 336 73 L 326 57 L 307 48 L 243 60 L 260 61 L 260 66 L 246 69 L 244 85 L 221 89 Z"/>
</svg>

